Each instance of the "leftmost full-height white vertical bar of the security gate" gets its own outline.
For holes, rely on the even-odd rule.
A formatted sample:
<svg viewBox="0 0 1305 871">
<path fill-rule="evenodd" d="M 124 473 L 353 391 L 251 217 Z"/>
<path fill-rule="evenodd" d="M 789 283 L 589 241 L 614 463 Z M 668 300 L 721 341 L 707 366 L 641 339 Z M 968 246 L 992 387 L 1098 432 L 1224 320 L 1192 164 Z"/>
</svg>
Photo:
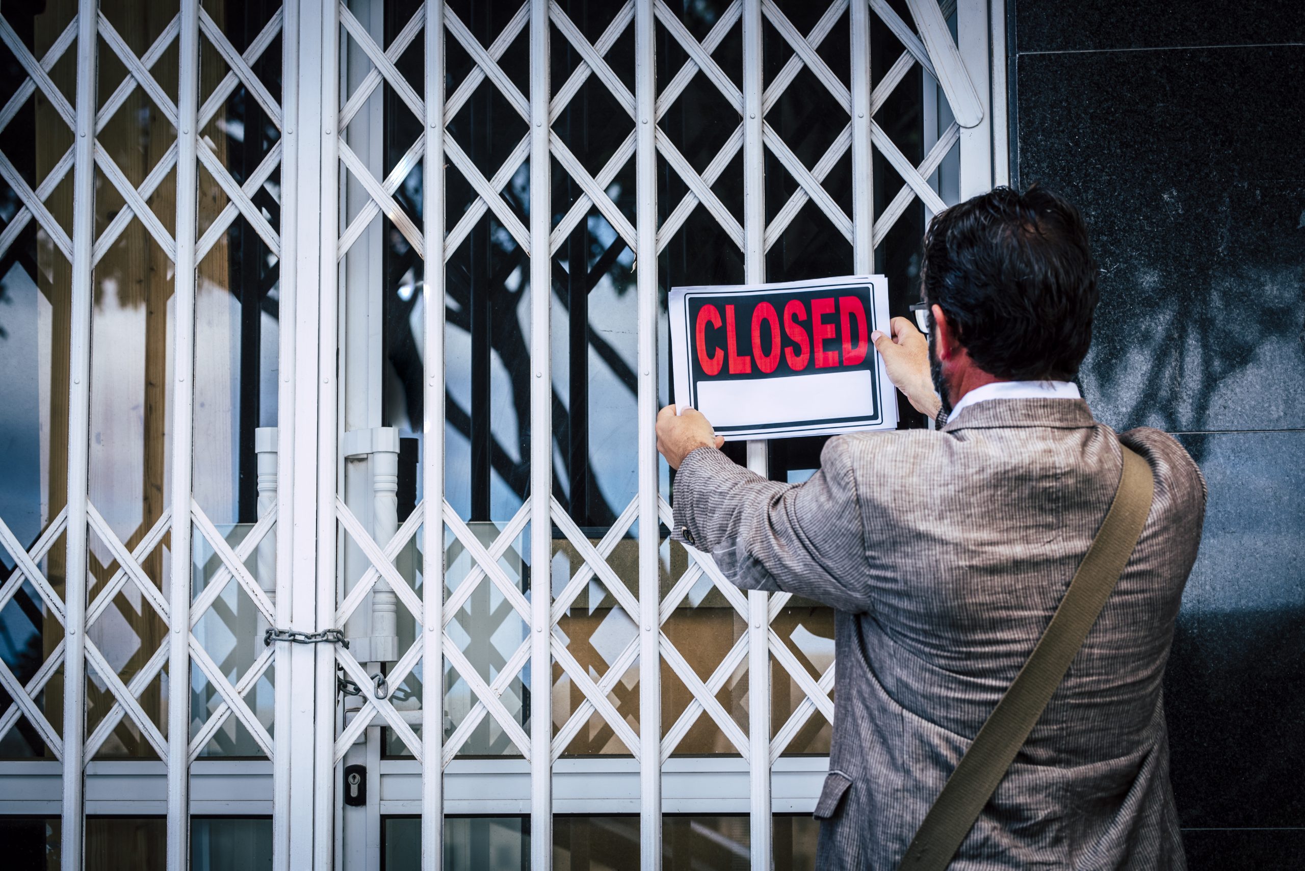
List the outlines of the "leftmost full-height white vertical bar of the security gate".
<svg viewBox="0 0 1305 871">
<path fill-rule="evenodd" d="M 95 0 L 77 5 L 77 143 L 73 151 L 73 270 L 68 389 L 68 563 L 64 583 L 65 871 L 81 871 L 86 748 L 86 465 L 90 454 L 91 231 L 95 219 Z"/>
</svg>

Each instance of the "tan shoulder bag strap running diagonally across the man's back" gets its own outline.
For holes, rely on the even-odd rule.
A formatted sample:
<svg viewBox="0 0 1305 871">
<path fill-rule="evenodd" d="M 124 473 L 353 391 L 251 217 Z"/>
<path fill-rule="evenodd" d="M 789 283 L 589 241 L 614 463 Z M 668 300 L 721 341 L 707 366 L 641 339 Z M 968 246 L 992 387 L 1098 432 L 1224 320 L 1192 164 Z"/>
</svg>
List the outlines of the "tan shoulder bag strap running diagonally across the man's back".
<svg viewBox="0 0 1305 871">
<path fill-rule="evenodd" d="M 1015 682 L 988 716 L 924 818 L 902 871 L 942 871 L 1034 730 L 1114 589 L 1151 512 L 1151 467 L 1125 446 L 1124 473 L 1087 555 Z"/>
</svg>

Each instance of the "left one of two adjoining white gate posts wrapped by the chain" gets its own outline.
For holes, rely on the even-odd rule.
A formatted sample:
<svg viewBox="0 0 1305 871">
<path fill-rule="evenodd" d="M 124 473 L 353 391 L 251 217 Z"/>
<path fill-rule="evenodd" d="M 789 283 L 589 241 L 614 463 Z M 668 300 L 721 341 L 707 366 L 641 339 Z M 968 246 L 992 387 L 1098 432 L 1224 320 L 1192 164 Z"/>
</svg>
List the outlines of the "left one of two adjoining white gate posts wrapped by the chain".
<svg viewBox="0 0 1305 871">
<path fill-rule="evenodd" d="M 305 142 L 299 137 L 299 125 L 303 121 L 299 116 L 299 46 L 301 42 L 299 0 L 284 0 L 283 13 L 284 21 L 281 29 L 281 104 L 284 129 L 282 130 L 283 147 L 281 151 L 281 259 L 277 263 L 277 267 L 281 270 L 277 372 L 281 374 L 281 378 L 277 383 L 277 433 L 274 437 L 269 433 L 269 437 L 275 438 L 277 442 L 277 481 L 281 486 L 277 503 L 277 527 L 274 533 L 269 533 L 277 536 L 277 597 L 273 600 L 277 626 L 288 626 L 291 623 L 292 605 L 296 598 L 294 596 L 292 579 L 301 576 L 299 571 L 301 568 L 299 554 L 303 548 L 303 542 L 300 541 L 303 536 L 296 533 L 295 519 L 298 516 L 298 502 L 303 499 L 303 488 L 299 486 L 299 482 L 303 481 L 304 476 L 298 472 L 296 451 L 294 450 L 295 428 L 300 416 L 299 403 L 304 398 L 303 394 L 308 394 L 313 399 L 317 395 L 313 390 L 300 391 L 299 395 L 295 391 L 295 379 L 300 376 L 296 360 L 299 325 L 299 288 L 296 278 L 299 275 L 299 235 L 301 232 L 299 226 L 299 192 L 301 189 L 299 171 L 301 160 L 299 159 L 299 154 L 300 149 L 305 146 Z M 315 141 L 316 137 L 309 136 L 307 138 L 308 147 L 316 147 Z M 313 209 L 305 211 L 307 214 L 312 214 Z M 309 554 L 315 557 L 312 552 Z M 308 571 L 312 570 L 311 566 L 312 563 L 309 563 Z M 273 721 L 275 722 L 271 765 L 273 871 L 288 871 L 290 868 L 291 812 L 295 810 L 290 802 L 290 763 L 292 750 L 298 751 L 298 747 L 292 747 L 290 737 L 295 729 L 301 728 L 299 716 L 295 713 L 299 708 L 295 704 L 299 691 L 296 690 L 292 694 L 291 687 L 303 686 L 292 679 L 301 677 L 294 674 L 296 664 L 292 648 L 295 647 L 303 645 L 278 644 L 273 666 L 274 674 L 278 675 L 274 685 L 275 712 L 273 715 Z M 304 758 L 304 754 L 299 752 L 299 758 Z M 300 765 L 296 769 L 299 780 L 304 784 L 303 789 L 308 789 L 311 793 L 312 758 L 308 756 L 307 764 L 300 763 Z M 311 827 L 307 837 L 312 837 Z M 299 855 L 304 854 L 303 851 L 309 842 L 305 838 L 296 845 Z"/>
</svg>

